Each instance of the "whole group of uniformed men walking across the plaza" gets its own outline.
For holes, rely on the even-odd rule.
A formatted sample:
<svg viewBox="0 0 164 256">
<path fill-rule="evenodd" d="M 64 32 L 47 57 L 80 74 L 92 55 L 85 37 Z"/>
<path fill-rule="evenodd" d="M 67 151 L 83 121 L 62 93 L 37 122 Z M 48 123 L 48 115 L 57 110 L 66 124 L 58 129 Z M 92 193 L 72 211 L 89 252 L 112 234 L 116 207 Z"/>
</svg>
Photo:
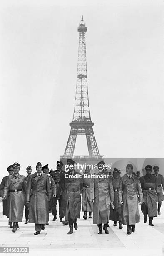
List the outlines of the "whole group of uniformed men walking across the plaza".
<svg viewBox="0 0 164 256">
<path fill-rule="evenodd" d="M 15 232 L 22 221 L 25 205 L 25 224 L 35 223 L 35 235 L 40 234 L 49 222 L 49 212 L 52 211 L 53 221 L 57 218 L 57 201 L 59 202 L 59 218 L 64 225 L 69 225 L 68 234 L 77 230 L 77 219 L 80 218 L 81 201 L 84 220 L 92 218 L 98 226 L 98 234 L 102 228 L 106 234 L 109 220 L 114 221 L 114 226 L 119 223 L 127 226 L 127 234 L 135 231 L 135 224 L 139 222 L 139 208 L 144 215 L 144 223 L 149 216 L 149 225 L 153 217 L 160 215 L 160 207 L 164 200 L 164 178 L 158 174 L 159 167 L 147 165 L 146 175 L 137 177 L 133 172 L 133 165 L 127 164 L 126 174 L 121 177 L 121 171 L 113 170 L 113 177 L 106 176 L 107 169 L 104 161 L 100 161 L 96 178 L 90 178 L 90 169 L 87 168 L 82 178 L 72 166 L 76 164 L 72 159 L 67 159 L 69 171 L 62 170 L 63 163 L 57 161 L 57 170 L 49 172 L 48 164 L 36 165 L 36 172 L 31 174 L 31 166 L 27 167 L 27 177 L 20 175 L 20 164 L 14 163 L 7 168 L 8 176 L 0 184 L 0 196 L 3 198 L 3 215 L 9 218 L 9 226 Z M 152 169 L 154 174 L 152 175 Z M 87 176 L 87 177 L 86 177 Z M 139 176 L 139 175 L 138 175 Z M 82 194 L 82 197 L 81 197 Z M 82 198 L 82 199 L 81 199 Z M 158 205 L 157 205 L 158 203 Z M 62 218 L 65 220 L 62 221 Z M 12 224 L 13 223 L 13 224 Z M 103 227 L 102 227 L 103 225 Z"/>
</svg>

